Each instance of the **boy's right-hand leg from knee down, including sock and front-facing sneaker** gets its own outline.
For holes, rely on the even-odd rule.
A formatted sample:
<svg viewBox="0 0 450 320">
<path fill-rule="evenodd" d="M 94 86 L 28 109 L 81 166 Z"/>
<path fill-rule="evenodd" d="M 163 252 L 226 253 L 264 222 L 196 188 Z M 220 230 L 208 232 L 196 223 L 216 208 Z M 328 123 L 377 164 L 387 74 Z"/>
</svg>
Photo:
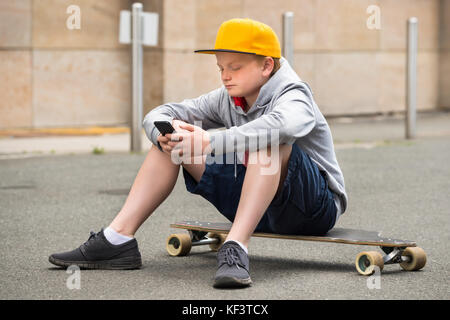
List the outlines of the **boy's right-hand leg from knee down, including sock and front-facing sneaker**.
<svg viewBox="0 0 450 320">
<path fill-rule="evenodd" d="M 248 254 L 241 244 L 248 246 L 253 231 L 284 185 L 292 146 L 277 147 L 278 152 L 267 148 L 249 155 L 233 225 L 217 254 L 214 287 L 245 287 L 252 283 Z"/>
</svg>

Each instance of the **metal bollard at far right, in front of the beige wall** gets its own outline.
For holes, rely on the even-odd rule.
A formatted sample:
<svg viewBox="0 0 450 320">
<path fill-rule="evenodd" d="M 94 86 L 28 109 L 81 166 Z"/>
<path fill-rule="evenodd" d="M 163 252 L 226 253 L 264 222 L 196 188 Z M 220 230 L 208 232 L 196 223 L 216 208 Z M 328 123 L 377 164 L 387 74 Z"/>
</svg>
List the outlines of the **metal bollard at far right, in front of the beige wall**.
<svg viewBox="0 0 450 320">
<path fill-rule="evenodd" d="M 417 32 L 418 19 L 411 17 L 407 21 L 406 139 L 414 139 L 416 137 Z"/>
</svg>

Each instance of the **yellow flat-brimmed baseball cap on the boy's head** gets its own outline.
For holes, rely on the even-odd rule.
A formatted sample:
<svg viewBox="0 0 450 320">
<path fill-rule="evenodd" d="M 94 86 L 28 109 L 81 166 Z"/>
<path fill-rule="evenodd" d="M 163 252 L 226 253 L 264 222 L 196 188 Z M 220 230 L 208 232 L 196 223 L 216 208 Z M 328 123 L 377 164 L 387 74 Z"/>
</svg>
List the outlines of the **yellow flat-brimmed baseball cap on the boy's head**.
<svg viewBox="0 0 450 320">
<path fill-rule="evenodd" d="M 222 23 L 217 32 L 214 49 L 195 53 L 236 52 L 280 58 L 278 37 L 271 27 L 252 19 L 231 19 Z"/>
</svg>

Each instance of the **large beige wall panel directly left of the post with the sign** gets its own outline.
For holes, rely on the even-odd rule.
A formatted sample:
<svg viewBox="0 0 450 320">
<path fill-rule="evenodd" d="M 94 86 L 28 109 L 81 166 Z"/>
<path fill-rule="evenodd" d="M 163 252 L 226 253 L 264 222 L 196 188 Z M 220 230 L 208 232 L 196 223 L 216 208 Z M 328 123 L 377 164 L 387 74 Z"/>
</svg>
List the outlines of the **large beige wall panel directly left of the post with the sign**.
<svg viewBox="0 0 450 320">
<path fill-rule="evenodd" d="M 35 50 L 34 125 L 126 123 L 130 102 L 128 60 L 124 51 Z"/>
</svg>

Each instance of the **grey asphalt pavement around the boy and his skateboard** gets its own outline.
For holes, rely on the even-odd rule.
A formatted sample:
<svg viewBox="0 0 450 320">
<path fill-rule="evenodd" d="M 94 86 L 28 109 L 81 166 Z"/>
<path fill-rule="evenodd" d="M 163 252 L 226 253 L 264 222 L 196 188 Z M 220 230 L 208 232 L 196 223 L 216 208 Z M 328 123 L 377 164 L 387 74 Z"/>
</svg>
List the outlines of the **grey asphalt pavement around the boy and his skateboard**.
<svg viewBox="0 0 450 320">
<path fill-rule="evenodd" d="M 450 117 L 418 119 L 413 140 L 403 139 L 401 119 L 329 122 L 349 196 L 337 226 L 416 241 L 428 257 L 423 270 L 387 265 L 369 279 L 356 272 L 354 260 L 375 247 L 253 238 L 254 283 L 243 290 L 212 287 L 216 255 L 205 247 L 186 257 L 167 254 L 166 238 L 177 231 L 170 223 L 226 221 L 186 191 L 181 172 L 172 194 L 136 234 L 141 269 L 78 274 L 54 267 L 51 253 L 79 246 L 120 210 L 145 146 L 129 153 L 121 134 L 0 139 L 0 299 L 449 299 Z M 71 150 L 71 139 L 81 138 L 84 148 Z M 45 139 L 59 140 L 46 145 Z M 107 148 L 108 139 L 122 142 Z M 104 143 L 104 150 L 92 152 L 88 141 Z"/>
</svg>

